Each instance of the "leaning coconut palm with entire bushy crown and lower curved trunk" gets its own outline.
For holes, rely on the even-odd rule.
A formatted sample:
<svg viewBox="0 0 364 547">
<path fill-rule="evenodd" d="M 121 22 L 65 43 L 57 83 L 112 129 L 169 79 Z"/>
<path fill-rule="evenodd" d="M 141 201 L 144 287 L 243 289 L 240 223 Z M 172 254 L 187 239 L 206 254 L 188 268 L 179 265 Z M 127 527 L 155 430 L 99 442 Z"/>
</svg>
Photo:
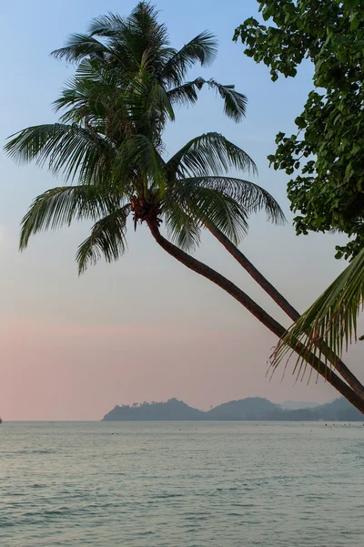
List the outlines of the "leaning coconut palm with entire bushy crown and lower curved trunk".
<svg viewBox="0 0 364 547">
<path fill-rule="evenodd" d="M 95 36 L 104 36 L 104 42 Z M 217 133 L 191 139 L 170 160 L 163 159 L 162 131 L 174 119 L 177 101 L 195 102 L 205 80 L 184 82 L 194 62 L 207 64 L 214 55 L 212 36 L 197 36 L 177 52 L 167 45 L 164 26 L 153 8 L 139 4 L 126 20 L 98 18 L 87 36 L 74 36 L 57 57 L 78 62 L 56 109 L 60 123 L 17 133 L 5 149 L 17 160 L 48 163 L 54 173 L 77 185 L 57 187 L 38 196 L 25 215 L 22 249 L 29 237 L 73 220 L 95 222 L 77 252 L 79 272 L 103 254 L 116 260 L 126 250 L 126 219 L 146 223 L 157 243 L 188 268 L 217 284 L 243 304 L 279 337 L 285 329 L 235 284 L 200 263 L 187 251 L 199 243 L 204 226 L 238 244 L 248 229 L 248 214 L 265 208 L 279 222 L 283 215 L 267 191 L 227 176 L 230 168 L 255 170 L 254 162 Z M 153 67 L 153 69 L 151 69 Z M 240 119 L 246 99 L 231 86 L 212 80 L 225 101 L 227 115 Z M 164 221 L 167 238 L 160 232 Z M 174 243 L 177 244 L 174 244 Z M 364 410 L 345 382 L 299 341 L 291 346 L 339 392 Z"/>
</svg>

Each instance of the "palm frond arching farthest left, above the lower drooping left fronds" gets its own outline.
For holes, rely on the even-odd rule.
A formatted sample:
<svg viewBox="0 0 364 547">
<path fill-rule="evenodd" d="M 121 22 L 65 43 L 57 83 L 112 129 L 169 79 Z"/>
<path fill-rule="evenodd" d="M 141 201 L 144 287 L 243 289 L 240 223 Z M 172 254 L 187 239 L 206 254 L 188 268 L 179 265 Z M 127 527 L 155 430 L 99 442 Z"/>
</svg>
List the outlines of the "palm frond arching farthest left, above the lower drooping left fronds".
<svg viewBox="0 0 364 547">
<path fill-rule="evenodd" d="M 5 152 L 19 163 L 48 163 L 53 174 L 66 180 L 104 181 L 109 177 L 115 149 L 91 129 L 76 124 L 45 124 L 23 129 L 9 137 Z"/>
</svg>

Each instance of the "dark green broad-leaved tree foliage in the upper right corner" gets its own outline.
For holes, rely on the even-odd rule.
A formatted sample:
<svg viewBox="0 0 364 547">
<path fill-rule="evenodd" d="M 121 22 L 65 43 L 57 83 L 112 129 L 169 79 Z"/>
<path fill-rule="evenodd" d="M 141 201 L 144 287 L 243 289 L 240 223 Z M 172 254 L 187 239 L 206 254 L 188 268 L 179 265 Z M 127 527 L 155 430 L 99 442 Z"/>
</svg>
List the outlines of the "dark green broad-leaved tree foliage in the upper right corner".
<svg viewBox="0 0 364 547">
<path fill-rule="evenodd" d="M 315 89 L 295 120 L 294 135 L 278 133 L 269 156 L 288 182 L 299 233 L 339 231 L 350 242 L 337 257 L 364 246 L 364 4 L 361 0 L 258 0 L 268 24 L 248 18 L 236 29 L 245 53 L 294 77 L 305 59 Z"/>
</svg>

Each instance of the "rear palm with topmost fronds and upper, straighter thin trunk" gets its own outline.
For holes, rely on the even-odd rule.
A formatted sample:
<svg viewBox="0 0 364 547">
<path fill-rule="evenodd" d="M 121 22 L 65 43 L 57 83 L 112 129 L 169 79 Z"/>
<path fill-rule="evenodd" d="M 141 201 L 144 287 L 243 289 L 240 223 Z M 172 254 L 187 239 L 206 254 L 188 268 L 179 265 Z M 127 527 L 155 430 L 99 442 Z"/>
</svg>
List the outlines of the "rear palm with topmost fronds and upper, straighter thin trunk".
<svg viewBox="0 0 364 547">
<path fill-rule="evenodd" d="M 238 93 L 234 86 L 223 86 L 213 79 L 205 80 L 202 77 L 192 81 L 185 80 L 189 67 L 196 62 L 199 62 L 201 66 L 208 66 L 216 53 L 216 40 L 208 32 L 199 34 L 179 51 L 170 47 L 167 27 L 158 23 L 155 7 L 146 2 L 140 2 L 127 18 L 114 14 L 97 17 L 86 34 L 71 36 L 66 46 L 54 51 L 53 55 L 75 63 L 93 59 L 105 63 L 107 67 L 114 67 L 118 77 L 123 75 L 120 85 L 126 85 L 131 74 L 139 74 L 143 70 L 153 72 L 160 86 L 159 92 L 164 94 L 164 100 L 168 103 L 170 112 L 175 104 L 195 103 L 198 92 L 207 85 L 208 88 L 217 89 L 223 98 L 227 116 L 240 121 L 245 116 L 247 98 Z M 67 95 L 66 100 L 69 98 Z M 78 99 L 79 97 L 76 98 Z M 60 99 L 59 105 L 65 106 L 64 98 Z M 171 119 L 174 119 L 173 114 Z M 163 124 L 159 129 L 162 128 Z M 251 183 L 247 182 L 247 189 L 249 185 Z M 267 198 L 268 195 L 264 196 L 263 201 L 267 202 Z M 250 204 L 252 205 L 253 201 L 250 201 Z M 258 203 L 256 210 L 261 206 L 262 203 Z M 253 209 L 254 207 L 251 206 L 250 211 Z M 268 209 L 268 218 L 277 221 L 275 214 L 274 210 Z M 248 257 L 239 251 L 237 242 L 231 241 L 223 231 L 209 222 L 207 217 L 201 216 L 200 220 L 288 317 L 297 321 L 300 317 L 298 311 L 273 284 L 269 283 L 268 279 L 248 260 Z M 364 386 L 335 352 L 330 350 L 328 344 L 315 340 L 315 345 L 319 346 L 320 352 L 339 371 L 349 386 L 364 397 Z"/>
</svg>

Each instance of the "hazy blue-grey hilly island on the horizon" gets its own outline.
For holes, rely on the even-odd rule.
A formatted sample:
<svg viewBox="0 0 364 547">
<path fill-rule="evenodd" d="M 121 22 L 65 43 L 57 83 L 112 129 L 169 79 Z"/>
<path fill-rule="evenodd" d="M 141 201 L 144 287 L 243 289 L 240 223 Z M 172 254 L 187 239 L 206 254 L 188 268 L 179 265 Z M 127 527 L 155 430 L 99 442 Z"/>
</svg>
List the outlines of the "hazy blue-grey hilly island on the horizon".
<svg viewBox="0 0 364 547">
<path fill-rule="evenodd" d="M 264 420 L 264 421 L 363 421 L 364 416 L 349 401 L 340 397 L 315 408 L 282 408 L 266 398 L 248 397 L 229 401 L 210 410 L 189 407 L 177 398 L 165 403 L 134 403 L 116 406 L 103 418 L 105 421 L 207 421 L 207 420 Z"/>
</svg>

